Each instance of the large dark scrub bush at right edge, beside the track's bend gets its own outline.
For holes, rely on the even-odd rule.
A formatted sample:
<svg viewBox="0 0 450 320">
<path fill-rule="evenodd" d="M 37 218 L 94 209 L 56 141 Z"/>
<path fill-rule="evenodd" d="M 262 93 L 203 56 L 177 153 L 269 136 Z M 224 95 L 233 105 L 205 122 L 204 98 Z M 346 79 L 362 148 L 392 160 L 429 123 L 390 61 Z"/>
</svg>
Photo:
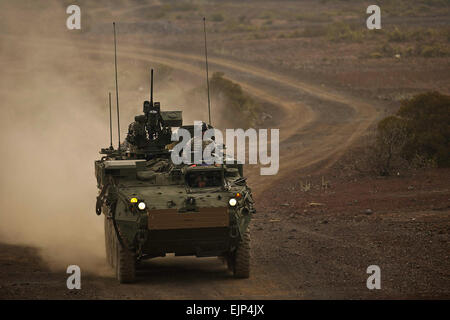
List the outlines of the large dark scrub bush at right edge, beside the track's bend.
<svg viewBox="0 0 450 320">
<path fill-rule="evenodd" d="M 402 101 L 397 114 L 381 120 L 355 151 L 349 166 L 361 173 L 449 167 L 450 96 L 428 92 Z"/>
</svg>

